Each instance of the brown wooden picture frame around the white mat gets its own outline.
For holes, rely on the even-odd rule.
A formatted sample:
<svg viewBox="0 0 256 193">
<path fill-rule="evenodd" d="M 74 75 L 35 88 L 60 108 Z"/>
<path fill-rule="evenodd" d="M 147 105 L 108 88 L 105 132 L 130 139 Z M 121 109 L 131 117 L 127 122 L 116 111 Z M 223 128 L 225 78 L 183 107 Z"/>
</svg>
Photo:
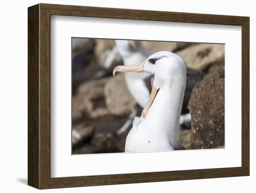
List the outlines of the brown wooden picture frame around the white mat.
<svg viewBox="0 0 256 193">
<path fill-rule="evenodd" d="M 242 167 L 51 178 L 50 16 L 242 26 Z M 28 8 L 28 185 L 39 189 L 249 175 L 249 17 L 38 4 Z"/>
</svg>

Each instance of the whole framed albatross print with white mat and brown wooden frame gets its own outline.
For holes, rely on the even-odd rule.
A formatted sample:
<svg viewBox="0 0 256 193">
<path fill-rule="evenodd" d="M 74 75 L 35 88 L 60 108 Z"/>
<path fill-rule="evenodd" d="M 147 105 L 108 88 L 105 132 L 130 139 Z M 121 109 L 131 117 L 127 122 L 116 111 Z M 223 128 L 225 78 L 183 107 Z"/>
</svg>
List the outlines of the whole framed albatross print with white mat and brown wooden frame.
<svg viewBox="0 0 256 193">
<path fill-rule="evenodd" d="M 28 8 L 28 185 L 249 175 L 249 17 Z"/>
</svg>

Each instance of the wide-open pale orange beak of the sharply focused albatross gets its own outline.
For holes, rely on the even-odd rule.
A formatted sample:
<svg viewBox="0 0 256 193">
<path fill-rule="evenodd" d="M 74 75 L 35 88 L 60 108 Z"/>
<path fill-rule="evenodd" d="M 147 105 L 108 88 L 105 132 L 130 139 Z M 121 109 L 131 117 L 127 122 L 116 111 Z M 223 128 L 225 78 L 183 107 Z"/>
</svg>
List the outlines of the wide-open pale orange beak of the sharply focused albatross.
<svg viewBox="0 0 256 193">
<path fill-rule="evenodd" d="M 137 64 L 133 64 L 133 65 L 128 65 L 128 66 L 116 66 L 113 70 L 113 76 L 115 77 L 115 73 L 116 72 L 142 72 L 144 71 L 144 63 L 145 60 L 143 60 L 142 62 L 139 62 Z M 152 86 L 152 90 L 151 90 L 151 94 L 149 96 L 148 99 L 148 103 L 146 104 L 146 106 L 144 107 L 144 109 L 142 110 L 142 114 L 141 117 L 143 119 L 146 118 L 147 113 L 148 113 L 148 109 L 150 108 L 150 106 L 152 105 L 155 96 L 157 94 L 157 91 L 154 87 L 154 85 Z"/>
</svg>

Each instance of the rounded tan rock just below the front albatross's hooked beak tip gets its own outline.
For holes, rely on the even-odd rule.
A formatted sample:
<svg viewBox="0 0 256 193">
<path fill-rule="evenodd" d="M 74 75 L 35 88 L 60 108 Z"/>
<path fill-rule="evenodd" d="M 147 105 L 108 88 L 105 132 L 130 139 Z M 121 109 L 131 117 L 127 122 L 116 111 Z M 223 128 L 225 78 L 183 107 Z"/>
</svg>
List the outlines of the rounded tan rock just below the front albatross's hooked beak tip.
<svg viewBox="0 0 256 193">
<path fill-rule="evenodd" d="M 127 115 L 136 106 L 136 101 L 127 89 L 124 74 L 111 78 L 104 92 L 108 111 L 112 115 Z"/>
</svg>

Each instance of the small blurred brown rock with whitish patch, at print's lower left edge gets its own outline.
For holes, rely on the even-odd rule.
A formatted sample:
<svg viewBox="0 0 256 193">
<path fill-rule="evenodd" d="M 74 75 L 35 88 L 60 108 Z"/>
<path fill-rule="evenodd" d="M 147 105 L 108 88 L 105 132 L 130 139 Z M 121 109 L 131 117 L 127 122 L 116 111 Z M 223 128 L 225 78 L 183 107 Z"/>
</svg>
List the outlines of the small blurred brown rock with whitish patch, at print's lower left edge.
<svg viewBox="0 0 256 193">
<path fill-rule="evenodd" d="M 86 126 L 85 124 L 79 124 L 72 129 L 72 145 L 73 148 L 79 144 L 88 141 L 94 134 L 94 129 L 92 126 Z"/>
</svg>

